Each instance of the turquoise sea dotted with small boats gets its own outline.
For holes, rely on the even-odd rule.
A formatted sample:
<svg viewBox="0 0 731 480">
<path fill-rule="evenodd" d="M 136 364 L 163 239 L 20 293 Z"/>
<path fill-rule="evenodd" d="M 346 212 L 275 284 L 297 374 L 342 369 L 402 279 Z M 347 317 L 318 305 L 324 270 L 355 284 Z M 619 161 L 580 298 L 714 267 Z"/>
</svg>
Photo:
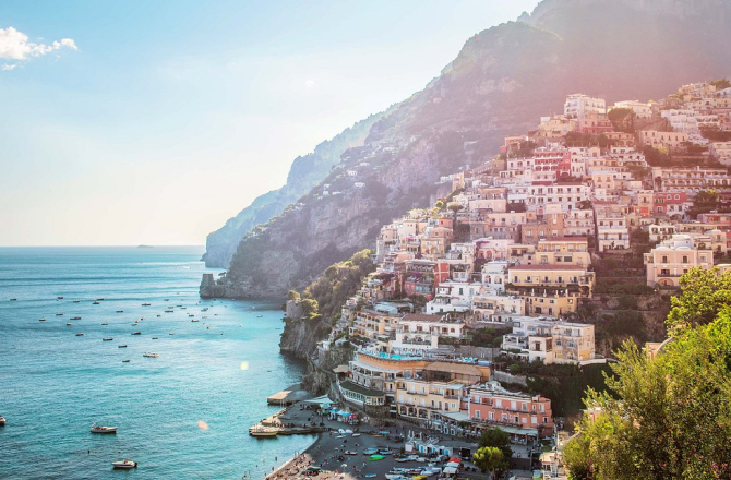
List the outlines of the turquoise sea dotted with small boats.
<svg viewBox="0 0 731 480">
<path fill-rule="evenodd" d="M 199 297 L 203 251 L 0 248 L 0 479 L 261 479 L 314 441 L 249 436 L 303 364 L 280 302 Z"/>
</svg>

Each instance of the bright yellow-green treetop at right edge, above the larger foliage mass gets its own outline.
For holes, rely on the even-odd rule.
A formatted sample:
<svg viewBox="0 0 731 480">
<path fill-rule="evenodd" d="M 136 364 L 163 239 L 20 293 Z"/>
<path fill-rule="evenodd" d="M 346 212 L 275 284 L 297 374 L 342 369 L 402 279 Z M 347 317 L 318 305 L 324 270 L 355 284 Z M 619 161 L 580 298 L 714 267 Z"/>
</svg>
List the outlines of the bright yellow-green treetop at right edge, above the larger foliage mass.
<svg viewBox="0 0 731 480">
<path fill-rule="evenodd" d="M 731 304 L 731 272 L 721 274 L 718 267 L 694 267 L 680 277 L 680 285 L 683 291 L 670 299 L 671 310 L 666 320 L 673 333 L 707 324 Z"/>
</svg>

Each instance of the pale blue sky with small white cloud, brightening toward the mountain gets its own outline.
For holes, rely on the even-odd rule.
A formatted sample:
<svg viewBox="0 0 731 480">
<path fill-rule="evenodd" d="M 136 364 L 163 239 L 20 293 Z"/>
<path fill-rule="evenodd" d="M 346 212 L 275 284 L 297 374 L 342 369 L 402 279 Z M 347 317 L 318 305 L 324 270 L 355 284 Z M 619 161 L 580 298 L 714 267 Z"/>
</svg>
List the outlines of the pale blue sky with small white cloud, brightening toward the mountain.
<svg viewBox="0 0 731 480">
<path fill-rule="evenodd" d="M 204 244 L 538 0 L 0 2 L 0 245 Z"/>
</svg>

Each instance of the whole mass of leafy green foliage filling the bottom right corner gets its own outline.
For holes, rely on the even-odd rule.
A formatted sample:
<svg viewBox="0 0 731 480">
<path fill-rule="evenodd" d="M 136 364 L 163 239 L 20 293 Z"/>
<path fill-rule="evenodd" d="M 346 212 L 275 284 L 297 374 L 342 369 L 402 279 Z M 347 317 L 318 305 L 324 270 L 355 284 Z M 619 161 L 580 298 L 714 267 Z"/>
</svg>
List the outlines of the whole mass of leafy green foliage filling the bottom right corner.
<svg viewBox="0 0 731 480">
<path fill-rule="evenodd" d="M 573 479 L 731 478 L 731 274 L 694 268 L 656 356 L 626 341 L 565 447 Z"/>
</svg>

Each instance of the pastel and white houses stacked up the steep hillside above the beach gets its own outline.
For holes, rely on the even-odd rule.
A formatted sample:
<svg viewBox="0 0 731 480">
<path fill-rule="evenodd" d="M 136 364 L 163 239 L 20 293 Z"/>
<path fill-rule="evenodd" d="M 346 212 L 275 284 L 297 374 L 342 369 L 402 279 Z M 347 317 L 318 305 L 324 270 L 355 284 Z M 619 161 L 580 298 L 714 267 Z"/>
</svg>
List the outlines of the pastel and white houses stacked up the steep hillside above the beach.
<svg viewBox="0 0 731 480">
<path fill-rule="evenodd" d="M 516 444 L 554 439 L 551 400 L 493 359 L 611 361 L 597 351 L 596 325 L 582 322 L 601 279 L 595 264 L 639 249 L 655 292 L 676 289 L 692 267 L 723 264 L 729 166 L 728 82 L 648 103 L 570 95 L 563 113 L 505 137 L 495 158 L 442 177 L 451 193 L 431 208 L 381 228 L 375 272 L 315 357 L 357 346 L 332 369 L 334 391 L 368 415 L 467 439 L 495 427 Z M 357 170 L 348 175 L 363 188 Z M 287 316 L 301 315 L 290 300 Z M 465 341 L 486 328 L 501 333 L 494 345 Z M 547 477 L 562 475 L 554 454 L 542 459 Z"/>
</svg>

